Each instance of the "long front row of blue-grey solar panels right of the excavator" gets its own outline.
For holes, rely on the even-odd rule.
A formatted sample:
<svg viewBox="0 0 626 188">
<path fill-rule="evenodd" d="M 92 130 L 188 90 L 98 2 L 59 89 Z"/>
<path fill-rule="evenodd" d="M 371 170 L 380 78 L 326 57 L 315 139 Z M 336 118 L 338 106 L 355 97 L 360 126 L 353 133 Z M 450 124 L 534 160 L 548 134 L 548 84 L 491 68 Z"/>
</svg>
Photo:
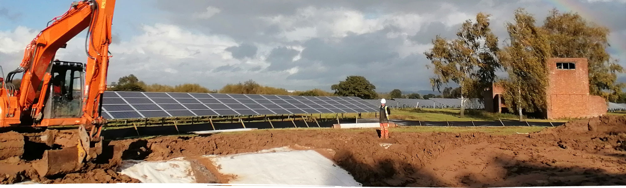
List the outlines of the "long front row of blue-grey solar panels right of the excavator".
<svg viewBox="0 0 626 188">
<path fill-rule="evenodd" d="M 357 97 L 106 91 L 105 118 L 376 112 Z"/>
</svg>

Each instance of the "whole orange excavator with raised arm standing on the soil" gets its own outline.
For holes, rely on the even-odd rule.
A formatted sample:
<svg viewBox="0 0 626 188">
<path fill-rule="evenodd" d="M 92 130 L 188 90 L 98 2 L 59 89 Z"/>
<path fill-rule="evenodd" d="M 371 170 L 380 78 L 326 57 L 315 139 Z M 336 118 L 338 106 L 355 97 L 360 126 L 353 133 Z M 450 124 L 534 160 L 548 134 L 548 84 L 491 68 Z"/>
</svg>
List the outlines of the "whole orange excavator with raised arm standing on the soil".
<svg viewBox="0 0 626 188">
<path fill-rule="evenodd" d="M 115 0 L 72 3 L 26 46 L 16 70 L 5 77 L 0 67 L 0 160 L 27 160 L 43 177 L 75 172 L 101 154 L 114 8 Z M 54 58 L 85 30 L 86 63 Z"/>
</svg>

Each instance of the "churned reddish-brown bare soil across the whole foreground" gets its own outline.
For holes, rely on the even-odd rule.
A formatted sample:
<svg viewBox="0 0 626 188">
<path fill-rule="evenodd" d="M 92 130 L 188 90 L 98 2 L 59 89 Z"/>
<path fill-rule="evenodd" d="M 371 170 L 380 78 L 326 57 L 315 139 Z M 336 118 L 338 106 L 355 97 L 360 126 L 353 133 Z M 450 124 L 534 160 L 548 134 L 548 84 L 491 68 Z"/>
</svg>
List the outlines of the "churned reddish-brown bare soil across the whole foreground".
<svg viewBox="0 0 626 188">
<path fill-rule="evenodd" d="M 40 178 L 29 169 L 28 162 L 11 158 L 0 160 L 11 164 L 3 169 L 13 170 L 0 171 L 0 180 L 5 184 L 28 178 L 46 183 L 137 182 L 115 173 L 120 160 L 193 158 L 290 146 L 324 152 L 365 186 L 626 185 L 624 116 L 577 120 L 528 135 L 394 133 L 393 128 L 390 135 L 390 140 L 381 140 L 374 130 L 272 130 L 116 140 L 108 144 L 101 159 L 80 173 Z M 393 145 L 384 149 L 381 143 Z M 215 169 L 208 169 L 215 173 Z M 217 174 L 218 182 L 227 181 L 220 176 Z M 207 175 L 205 181 L 211 180 L 213 177 Z"/>
</svg>

